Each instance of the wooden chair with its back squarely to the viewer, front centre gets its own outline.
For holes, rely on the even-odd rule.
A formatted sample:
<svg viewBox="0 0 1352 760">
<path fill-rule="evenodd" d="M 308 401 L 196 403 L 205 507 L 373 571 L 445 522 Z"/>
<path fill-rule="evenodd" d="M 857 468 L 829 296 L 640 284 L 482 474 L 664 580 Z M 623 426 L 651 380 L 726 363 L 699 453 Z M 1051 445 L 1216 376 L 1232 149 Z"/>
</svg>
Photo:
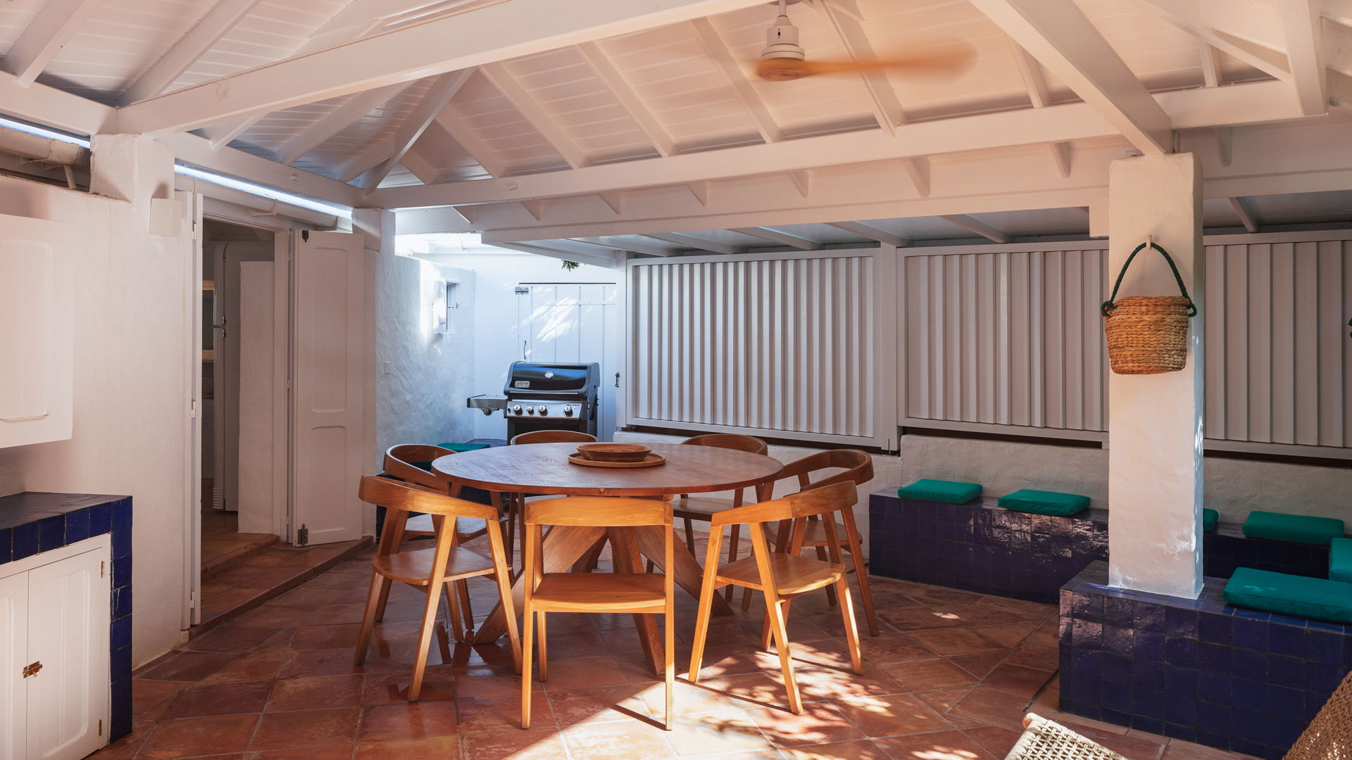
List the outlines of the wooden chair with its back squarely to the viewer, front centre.
<svg viewBox="0 0 1352 760">
<path fill-rule="evenodd" d="M 525 618 L 521 728 L 530 728 L 531 633 L 539 625 L 539 680 L 549 678 L 546 657 L 546 613 L 631 613 L 635 615 L 664 615 L 665 638 L 662 657 L 667 679 L 667 713 L 664 728 L 672 730 L 672 690 L 676 683 L 676 629 L 673 611 L 673 575 L 635 572 L 642 568 L 638 544 L 629 531 L 614 529 L 630 526 L 660 526 L 664 529 L 662 567 L 672 564 L 672 510 L 667 502 L 652 499 L 618 499 L 604 496 L 573 496 L 539 499 L 526 504 L 526 525 L 522 541 L 526 545 L 523 573 L 526 596 L 522 603 Z M 612 529 L 611 545 L 617 572 L 544 572 L 541 527 L 580 526 Z M 535 615 L 539 617 L 535 621 Z"/>
</svg>

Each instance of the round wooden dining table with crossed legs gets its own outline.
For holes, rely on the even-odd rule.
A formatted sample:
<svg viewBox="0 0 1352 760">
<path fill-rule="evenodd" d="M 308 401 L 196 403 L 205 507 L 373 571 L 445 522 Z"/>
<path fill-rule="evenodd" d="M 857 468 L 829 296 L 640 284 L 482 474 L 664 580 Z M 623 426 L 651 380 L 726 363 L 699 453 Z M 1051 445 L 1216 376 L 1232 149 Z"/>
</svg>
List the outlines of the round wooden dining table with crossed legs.
<svg viewBox="0 0 1352 760">
<path fill-rule="evenodd" d="M 645 468 L 603 468 L 572 464 L 568 454 L 577 444 L 530 444 L 523 446 L 496 446 L 461 452 L 431 462 L 437 476 L 458 485 L 473 485 L 493 494 L 534 494 L 552 496 L 667 496 L 676 494 L 707 494 L 737 488 L 760 490 L 784 468 L 779 460 L 764 454 L 718 449 L 713 446 L 685 446 L 680 444 L 645 444 L 665 464 Z M 498 499 L 495 499 L 496 502 Z M 545 572 L 568 572 L 602 538 L 611 538 L 611 557 L 617 572 L 637 572 L 638 554 L 658 567 L 662 564 L 662 529 L 660 527 L 575 527 L 554 526 L 545 536 L 542 559 Z M 637 544 L 637 552 L 623 545 Z M 702 568 L 680 541 L 673 546 L 675 580 L 692 596 L 699 598 Z M 512 596 L 519 607 L 525 586 L 518 577 Z M 730 614 L 722 596 L 714 598 L 715 614 Z M 650 615 L 635 615 L 645 653 L 657 665 L 657 632 Z M 475 642 L 495 641 L 506 633 L 502 604 L 475 632 Z"/>
</svg>

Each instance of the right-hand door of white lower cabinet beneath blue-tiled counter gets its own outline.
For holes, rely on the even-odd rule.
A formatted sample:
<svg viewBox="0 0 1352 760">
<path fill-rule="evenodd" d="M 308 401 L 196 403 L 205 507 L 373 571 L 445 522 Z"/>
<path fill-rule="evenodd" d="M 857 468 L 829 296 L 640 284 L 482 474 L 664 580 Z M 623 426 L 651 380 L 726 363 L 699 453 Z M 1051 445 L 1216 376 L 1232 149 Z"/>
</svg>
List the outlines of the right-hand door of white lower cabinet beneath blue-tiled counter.
<svg viewBox="0 0 1352 760">
<path fill-rule="evenodd" d="M 107 549 L 28 572 L 28 760 L 76 760 L 107 744 Z"/>
</svg>

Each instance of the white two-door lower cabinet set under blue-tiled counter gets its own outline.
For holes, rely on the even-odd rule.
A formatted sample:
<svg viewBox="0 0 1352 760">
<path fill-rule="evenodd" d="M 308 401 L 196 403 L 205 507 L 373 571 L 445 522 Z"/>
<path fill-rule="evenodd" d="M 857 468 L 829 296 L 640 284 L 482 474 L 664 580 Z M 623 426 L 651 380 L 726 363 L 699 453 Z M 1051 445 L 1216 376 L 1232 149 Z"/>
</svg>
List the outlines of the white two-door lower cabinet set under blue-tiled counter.
<svg viewBox="0 0 1352 760">
<path fill-rule="evenodd" d="M 0 565 L 0 760 L 108 742 L 110 556 L 104 536 Z"/>
</svg>

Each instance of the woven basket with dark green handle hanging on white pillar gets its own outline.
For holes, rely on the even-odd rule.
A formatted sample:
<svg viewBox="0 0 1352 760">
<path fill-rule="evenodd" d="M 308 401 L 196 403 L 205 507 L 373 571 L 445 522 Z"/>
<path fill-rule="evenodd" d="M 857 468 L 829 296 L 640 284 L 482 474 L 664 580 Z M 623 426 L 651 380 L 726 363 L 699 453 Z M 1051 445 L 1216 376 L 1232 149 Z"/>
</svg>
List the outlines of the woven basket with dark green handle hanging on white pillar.
<svg viewBox="0 0 1352 760">
<path fill-rule="evenodd" d="M 1117 298 L 1126 268 L 1146 245 L 1164 256 L 1183 295 Z M 1107 335 L 1107 358 L 1113 372 L 1159 375 L 1183 369 L 1187 365 L 1188 319 L 1194 315 L 1197 304 L 1188 298 L 1169 254 L 1153 242 L 1137 246 L 1122 264 L 1113 295 L 1103 303 L 1103 333 Z"/>
</svg>

